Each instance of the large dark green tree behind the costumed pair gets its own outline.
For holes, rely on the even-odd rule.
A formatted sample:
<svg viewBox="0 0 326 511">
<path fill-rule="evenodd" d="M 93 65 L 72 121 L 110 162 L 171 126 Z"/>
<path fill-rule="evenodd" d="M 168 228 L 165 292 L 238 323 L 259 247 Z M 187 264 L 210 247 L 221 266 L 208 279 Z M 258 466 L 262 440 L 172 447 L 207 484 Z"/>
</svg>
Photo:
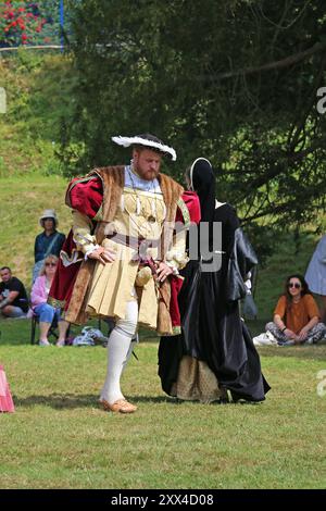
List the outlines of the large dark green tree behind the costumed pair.
<svg viewBox="0 0 326 511">
<path fill-rule="evenodd" d="M 108 164 L 112 135 L 198 155 L 243 222 L 302 224 L 325 211 L 326 11 L 310 0 L 72 1 L 78 86 L 63 122 L 68 174 Z"/>
</svg>

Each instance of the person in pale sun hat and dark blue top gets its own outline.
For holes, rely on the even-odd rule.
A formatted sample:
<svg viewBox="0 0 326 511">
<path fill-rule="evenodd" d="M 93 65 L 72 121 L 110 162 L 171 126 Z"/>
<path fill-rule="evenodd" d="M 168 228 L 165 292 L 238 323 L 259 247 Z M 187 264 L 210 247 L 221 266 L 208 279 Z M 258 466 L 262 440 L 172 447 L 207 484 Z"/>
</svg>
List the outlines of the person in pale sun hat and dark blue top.
<svg viewBox="0 0 326 511">
<path fill-rule="evenodd" d="M 43 232 L 38 234 L 35 238 L 33 284 L 39 276 L 46 257 L 50 253 L 59 257 L 65 240 L 65 235 L 57 230 L 58 219 L 54 210 L 45 210 L 39 219 L 39 223 L 40 226 L 43 227 Z"/>
</svg>

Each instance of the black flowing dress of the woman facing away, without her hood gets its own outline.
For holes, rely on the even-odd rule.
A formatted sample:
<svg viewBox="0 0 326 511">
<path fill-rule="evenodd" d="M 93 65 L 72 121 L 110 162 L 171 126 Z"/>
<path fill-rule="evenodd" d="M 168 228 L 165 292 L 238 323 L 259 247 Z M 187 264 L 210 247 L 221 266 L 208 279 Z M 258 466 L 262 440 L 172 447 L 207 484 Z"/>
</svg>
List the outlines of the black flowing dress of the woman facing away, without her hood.
<svg viewBox="0 0 326 511">
<path fill-rule="evenodd" d="M 203 271 L 198 258 L 181 272 L 181 334 L 160 339 L 162 388 L 171 395 L 180 360 L 190 356 L 208 364 L 220 387 L 230 390 L 233 400 L 262 401 L 271 387 L 239 313 L 239 300 L 246 296 L 243 279 L 256 258 L 231 205 L 216 208 L 213 222 L 222 225 L 222 265 L 217 271 Z"/>
</svg>

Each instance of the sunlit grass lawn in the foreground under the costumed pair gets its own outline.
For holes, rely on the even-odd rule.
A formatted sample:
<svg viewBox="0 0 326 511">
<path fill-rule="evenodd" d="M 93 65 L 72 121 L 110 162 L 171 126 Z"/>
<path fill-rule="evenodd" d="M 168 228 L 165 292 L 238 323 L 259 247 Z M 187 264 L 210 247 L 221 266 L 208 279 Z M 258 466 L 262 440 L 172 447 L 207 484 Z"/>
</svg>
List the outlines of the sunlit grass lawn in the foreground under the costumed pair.
<svg viewBox="0 0 326 511">
<path fill-rule="evenodd" d="M 30 346 L 29 327 L 0 323 L 16 407 L 0 414 L 1 488 L 325 488 L 325 345 L 260 348 L 266 401 L 208 406 L 163 394 L 158 341 L 142 336 L 123 378 L 139 410 L 125 416 L 97 404 L 105 349 Z"/>
</svg>

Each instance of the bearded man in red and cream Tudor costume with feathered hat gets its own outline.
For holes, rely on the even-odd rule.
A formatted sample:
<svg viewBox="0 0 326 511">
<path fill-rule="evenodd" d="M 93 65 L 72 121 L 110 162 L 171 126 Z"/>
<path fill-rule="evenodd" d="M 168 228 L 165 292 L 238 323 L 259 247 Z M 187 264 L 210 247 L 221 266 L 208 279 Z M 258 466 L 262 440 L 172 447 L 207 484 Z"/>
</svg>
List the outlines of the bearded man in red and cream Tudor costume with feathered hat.
<svg viewBox="0 0 326 511">
<path fill-rule="evenodd" d="M 176 160 L 173 148 L 148 134 L 112 140 L 131 146 L 133 160 L 71 182 L 66 204 L 73 209 L 73 227 L 49 301 L 71 323 L 89 316 L 115 320 L 100 403 L 104 410 L 133 413 L 137 407 L 122 394 L 121 374 L 138 324 L 160 335 L 179 331 L 178 270 L 188 261 L 186 230 L 199 222 L 200 205 L 195 192 L 160 173 L 162 155 Z"/>
</svg>

